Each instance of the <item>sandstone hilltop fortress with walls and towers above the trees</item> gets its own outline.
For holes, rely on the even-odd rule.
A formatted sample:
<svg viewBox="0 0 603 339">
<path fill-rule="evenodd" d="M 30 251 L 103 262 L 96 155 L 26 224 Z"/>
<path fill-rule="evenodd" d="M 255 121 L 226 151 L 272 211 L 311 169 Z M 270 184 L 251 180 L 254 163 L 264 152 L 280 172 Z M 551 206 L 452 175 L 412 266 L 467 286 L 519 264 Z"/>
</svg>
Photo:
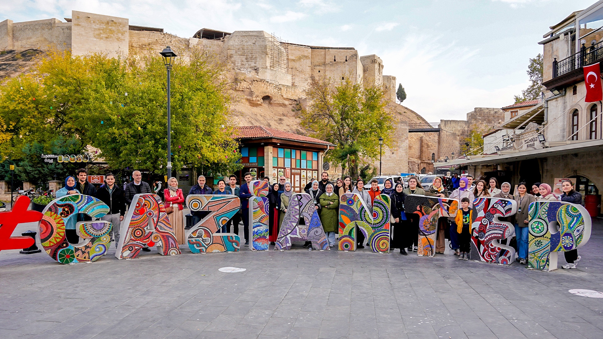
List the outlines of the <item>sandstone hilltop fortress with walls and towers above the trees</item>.
<svg viewBox="0 0 603 339">
<path fill-rule="evenodd" d="M 130 25 L 126 18 L 81 11 L 72 11 L 72 17 L 65 18 L 65 22 L 55 18 L 0 22 L 0 51 L 13 53 L 52 47 L 70 50 L 74 55 L 101 52 L 110 57 L 134 57 L 159 52 L 166 45 L 172 46 L 181 60 L 189 60 L 201 52 L 226 64 L 233 75 L 232 88 L 240 99 L 232 105 L 236 125 L 265 125 L 305 135 L 307 132 L 300 127 L 292 107 L 305 104 L 304 92 L 312 75 L 333 82 L 350 77 L 352 83 L 384 86 L 390 100 L 388 109 L 396 116 L 394 130 L 384 131 L 396 141 L 393 148 L 384 147 L 384 174 L 431 172 L 432 160 L 446 156 L 452 159 L 453 152 L 460 155 L 459 144 L 469 134 L 471 125 L 502 122 L 502 110 L 476 109 L 467 113 L 467 121 L 441 121 L 438 132 L 409 133 L 409 128 L 432 126 L 413 110 L 396 104 L 396 77 L 383 75 L 382 60 L 375 54 L 360 56 L 353 47 L 284 42 L 265 31 L 228 33 L 203 28 L 192 37 L 182 38 L 165 33 L 163 28 Z M 25 69 L 23 66 L 19 68 Z"/>
</svg>

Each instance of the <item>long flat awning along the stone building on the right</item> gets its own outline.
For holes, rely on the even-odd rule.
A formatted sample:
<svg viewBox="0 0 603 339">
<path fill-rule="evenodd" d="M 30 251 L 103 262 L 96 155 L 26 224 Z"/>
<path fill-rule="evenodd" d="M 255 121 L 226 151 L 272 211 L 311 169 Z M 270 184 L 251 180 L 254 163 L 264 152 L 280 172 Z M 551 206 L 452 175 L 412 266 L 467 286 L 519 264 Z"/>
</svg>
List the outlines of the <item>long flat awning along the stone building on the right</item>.
<svg viewBox="0 0 603 339">
<path fill-rule="evenodd" d="M 470 156 L 470 159 L 458 159 L 449 162 L 434 163 L 435 168 L 459 165 L 494 165 L 496 163 L 513 162 L 526 159 L 536 159 L 550 156 L 563 156 L 573 153 L 603 151 L 603 140 L 589 140 L 576 144 L 561 145 L 556 147 L 541 148 L 540 150 L 517 151 L 491 156 Z"/>
</svg>

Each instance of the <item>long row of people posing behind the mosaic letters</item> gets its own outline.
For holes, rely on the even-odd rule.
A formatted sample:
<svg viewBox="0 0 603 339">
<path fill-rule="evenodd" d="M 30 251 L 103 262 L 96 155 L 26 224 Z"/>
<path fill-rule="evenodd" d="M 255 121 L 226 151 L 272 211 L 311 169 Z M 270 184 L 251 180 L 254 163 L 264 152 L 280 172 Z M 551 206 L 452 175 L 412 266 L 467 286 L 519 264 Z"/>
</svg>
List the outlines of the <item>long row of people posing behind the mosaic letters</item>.
<svg viewBox="0 0 603 339">
<path fill-rule="evenodd" d="M 87 171 L 83 168 L 77 170 L 76 176 L 69 176 L 65 179 L 65 187 L 57 191 L 57 197 L 63 197 L 68 194 L 85 194 L 96 197 L 109 206 L 109 213 L 102 220 L 109 221 L 113 224 L 113 239 L 115 243 L 119 241 L 119 227 L 127 206 L 130 206 L 132 198 L 136 194 L 151 193 L 151 187 L 148 183 L 142 181 L 140 171 L 133 171 L 132 182 L 120 188 L 115 185 L 115 175 L 108 173 L 105 176 L 105 183 L 96 189 L 95 186 L 87 181 Z M 225 178 L 226 179 L 226 178 Z M 206 185 L 206 178 L 199 176 L 197 185 L 192 186 L 189 190 L 190 194 L 229 194 L 236 195 L 241 200 L 240 211 L 233 216 L 225 225 L 218 230 L 222 233 L 230 233 L 231 226 L 233 232 L 239 233 L 239 223 L 243 221 L 244 229 L 244 246 L 249 246 L 249 198 L 253 196 L 253 189 L 250 188 L 251 173 L 244 174 L 245 183 L 240 187 L 237 185 L 238 178 L 235 175 L 229 177 L 229 182 L 226 180 L 218 180 L 218 189 L 213 190 Z M 268 177 L 264 178 L 269 182 Z M 461 201 L 461 208 L 455 218 L 442 217 L 438 220 L 438 234 L 435 243 L 435 253 L 444 253 L 446 238 L 450 239 L 450 247 L 454 250 L 454 255 L 458 259 L 469 259 L 470 252 L 470 237 L 471 237 L 471 221 L 473 201 L 481 197 L 506 198 L 517 201 L 517 213 L 508 220 L 515 226 L 515 237 L 510 242 L 517 250 L 517 261 L 519 264 L 526 264 L 528 258 L 528 209 L 529 204 L 534 201 L 567 201 L 569 203 L 581 204 L 582 195 L 574 189 L 573 183 L 570 180 L 564 180 L 562 183 L 563 194 L 557 196 L 552 192 L 552 188 L 547 183 L 534 183 L 529 186 L 525 182 L 517 185 L 516 194 L 511 194 L 511 184 L 504 182 L 501 185 L 496 178 L 490 178 L 488 182 L 478 180 L 474 182 L 473 176 L 452 178 L 452 183 L 458 188 L 449 193 L 444 188 L 441 177 L 436 177 L 431 187 L 426 191 L 419 185 L 417 177 L 412 176 L 408 180 L 408 188 L 403 188 L 402 182 L 393 183 L 390 179 L 385 180 L 384 189 L 379 188 L 379 183 L 373 179 L 369 183 L 369 187 L 364 186 L 364 180 L 358 179 L 353 185 L 352 179 L 349 176 L 343 179 L 337 179 L 335 183 L 329 181 L 329 174 L 323 172 L 321 180 L 312 180 L 305 187 L 305 192 L 308 193 L 314 203 L 314 208 L 320 217 L 324 232 L 329 242 L 329 247 L 336 246 L 336 238 L 338 233 L 339 222 L 339 197 L 345 193 L 356 193 L 364 201 L 365 205 L 371 210 L 375 197 L 380 194 L 389 195 L 391 198 L 391 239 L 390 249 L 400 249 L 402 255 L 408 255 L 408 252 L 417 252 L 418 246 L 418 220 L 419 215 L 415 213 L 406 213 L 404 203 L 406 196 L 410 194 L 431 195 L 434 197 L 453 198 Z M 175 177 L 168 179 L 167 188 L 163 189 L 163 200 L 165 201 L 166 212 L 168 212 L 169 220 L 174 228 L 174 233 L 178 244 L 185 244 L 185 226 L 183 224 L 183 209 L 185 198 L 182 189 L 178 188 L 178 180 Z M 161 194 L 159 188 L 155 190 L 157 194 Z M 283 223 L 283 218 L 289 207 L 291 197 L 294 194 L 291 182 L 288 182 L 284 176 L 279 178 L 278 183 L 270 185 L 268 192 L 268 202 L 270 208 L 269 218 L 269 236 L 268 241 L 274 245 L 279 235 L 280 226 Z M 372 212 L 372 211 L 370 211 Z M 201 221 L 209 212 L 195 211 L 192 214 L 192 224 L 195 225 Z M 65 225 L 66 238 L 72 244 L 80 242 L 79 236 L 75 231 L 77 221 L 90 220 L 90 217 L 84 214 L 78 214 L 77 220 L 72 218 Z M 502 220 L 502 218 L 500 218 Z M 300 223 L 304 223 L 303 218 Z M 364 248 L 364 234 L 358 229 L 356 239 L 356 248 Z M 310 246 L 310 242 L 304 244 L 305 247 Z M 368 246 L 368 244 L 367 244 Z M 145 248 L 145 251 L 150 249 Z M 407 252 L 408 250 L 408 252 Z M 564 252 L 567 264 L 563 268 L 576 268 L 576 262 L 581 257 L 577 250 Z"/>
</svg>

